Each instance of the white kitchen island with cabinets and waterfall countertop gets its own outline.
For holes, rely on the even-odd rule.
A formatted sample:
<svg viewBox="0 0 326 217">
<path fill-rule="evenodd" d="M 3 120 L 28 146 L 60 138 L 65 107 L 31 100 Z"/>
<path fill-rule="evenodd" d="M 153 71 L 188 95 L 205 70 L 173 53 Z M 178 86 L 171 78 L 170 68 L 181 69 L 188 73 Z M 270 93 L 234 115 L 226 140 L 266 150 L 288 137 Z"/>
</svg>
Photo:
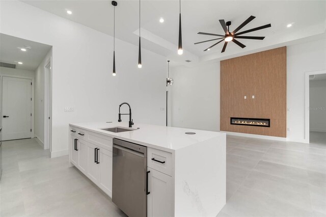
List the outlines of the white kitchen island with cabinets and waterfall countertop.
<svg viewBox="0 0 326 217">
<path fill-rule="evenodd" d="M 132 130 L 103 130 L 113 127 Z M 125 122 L 69 124 L 69 132 L 71 165 L 110 197 L 113 138 L 147 147 L 147 216 L 216 216 L 226 203 L 223 132 L 148 124 L 129 128 Z"/>
</svg>

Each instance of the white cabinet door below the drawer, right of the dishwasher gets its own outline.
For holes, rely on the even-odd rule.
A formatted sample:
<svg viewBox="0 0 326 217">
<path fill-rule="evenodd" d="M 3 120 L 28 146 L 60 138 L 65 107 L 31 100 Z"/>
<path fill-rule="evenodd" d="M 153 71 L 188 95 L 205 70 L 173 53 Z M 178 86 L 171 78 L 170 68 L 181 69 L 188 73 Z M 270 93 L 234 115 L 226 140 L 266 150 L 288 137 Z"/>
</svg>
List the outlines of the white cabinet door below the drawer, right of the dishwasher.
<svg viewBox="0 0 326 217">
<path fill-rule="evenodd" d="M 147 216 L 173 216 L 172 177 L 151 168 L 148 174 Z"/>
</svg>

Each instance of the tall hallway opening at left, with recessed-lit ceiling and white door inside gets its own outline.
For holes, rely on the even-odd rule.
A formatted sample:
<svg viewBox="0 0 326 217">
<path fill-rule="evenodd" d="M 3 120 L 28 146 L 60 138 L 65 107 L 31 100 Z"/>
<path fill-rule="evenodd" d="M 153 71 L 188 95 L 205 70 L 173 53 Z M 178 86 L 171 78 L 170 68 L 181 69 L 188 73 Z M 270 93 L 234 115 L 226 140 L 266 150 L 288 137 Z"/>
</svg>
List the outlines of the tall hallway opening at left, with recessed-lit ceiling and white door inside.
<svg viewBox="0 0 326 217">
<path fill-rule="evenodd" d="M 51 149 L 52 46 L 6 34 L 0 39 L 3 141 L 32 139 Z"/>
</svg>

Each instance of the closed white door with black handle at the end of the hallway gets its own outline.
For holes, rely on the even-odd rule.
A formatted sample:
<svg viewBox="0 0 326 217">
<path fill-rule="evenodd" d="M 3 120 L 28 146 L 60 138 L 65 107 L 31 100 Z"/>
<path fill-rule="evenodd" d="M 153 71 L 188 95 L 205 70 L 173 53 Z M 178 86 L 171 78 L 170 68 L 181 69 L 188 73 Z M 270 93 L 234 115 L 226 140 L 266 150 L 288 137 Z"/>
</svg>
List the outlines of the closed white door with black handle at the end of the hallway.
<svg viewBox="0 0 326 217">
<path fill-rule="evenodd" d="M 3 77 L 3 140 L 32 137 L 32 80 Z"/>
</svg>

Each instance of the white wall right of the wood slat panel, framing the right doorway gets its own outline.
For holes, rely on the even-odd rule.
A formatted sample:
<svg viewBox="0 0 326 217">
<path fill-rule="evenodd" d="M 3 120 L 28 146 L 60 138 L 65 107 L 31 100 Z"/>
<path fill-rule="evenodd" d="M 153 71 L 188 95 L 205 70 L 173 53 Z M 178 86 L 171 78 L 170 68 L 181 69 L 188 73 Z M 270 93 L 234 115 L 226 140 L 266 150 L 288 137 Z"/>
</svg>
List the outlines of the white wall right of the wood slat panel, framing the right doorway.
<svg viewBox="0 0 326 217">
<path fill-rule="evenodd" d="M 287 140 L 305 135 L 305 72 L 326 69 L 326 39 L 287 47 Z"/>
</svg>

